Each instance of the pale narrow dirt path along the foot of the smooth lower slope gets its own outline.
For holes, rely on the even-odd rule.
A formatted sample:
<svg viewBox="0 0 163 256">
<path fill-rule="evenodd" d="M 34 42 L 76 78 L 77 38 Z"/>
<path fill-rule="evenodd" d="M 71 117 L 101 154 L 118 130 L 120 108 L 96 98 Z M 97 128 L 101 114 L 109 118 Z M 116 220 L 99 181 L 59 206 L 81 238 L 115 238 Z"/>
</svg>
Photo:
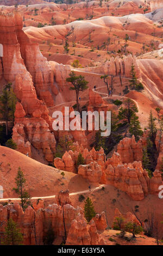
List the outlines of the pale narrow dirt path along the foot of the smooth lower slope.
<svg viewBox="0 0 163 256">
<path fill-rule="evenodd" d="M 92 188 L 91 191 L 90 190 L 83 190 L 83 191 L 77 191 L 77 192 L 73 192 L 73 193 L 70 193 L 70 196 L 74 196 L 75 194 L 84 194 L 84 193 L 87 193 L 87 192 L 93 192 L 93 191 L 96 191 L 96 190 L 100 190 L 102 187 L 105 187 L 106 185 L 100 185 L 98 187 L 95 187 L 95 188 Z M 51 199 L 51 198 L 55 198 L 55 194 L 53 196 L 47 196 L 47 197 L 32 197 L 31 199 Z M 0 199 L 0 202 L 4 202 L 4 201 L 8 201 L 8 200 L 11 200 L 11 201 L 20 201 L 20 198 L 1 198 Z"/>
</svg>

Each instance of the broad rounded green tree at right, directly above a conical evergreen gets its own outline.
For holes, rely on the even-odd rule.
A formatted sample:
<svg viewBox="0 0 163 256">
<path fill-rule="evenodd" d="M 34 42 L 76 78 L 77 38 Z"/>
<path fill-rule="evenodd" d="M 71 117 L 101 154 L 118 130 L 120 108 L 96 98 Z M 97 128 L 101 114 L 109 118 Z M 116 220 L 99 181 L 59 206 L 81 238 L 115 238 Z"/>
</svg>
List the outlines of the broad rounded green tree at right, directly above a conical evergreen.
<svg viewBox="0 0 163 256">
<path fill-rule="evenodd" d="M 129 98 L 123 102 L 123 105 L 124 107 L 121 107 L 118 113 L 118 118 L 126 119 L 130 124 L 131 117 L 133 117 L 134 113 L 138 112 L 138 109 L 134 101 Z"/>
</svg>

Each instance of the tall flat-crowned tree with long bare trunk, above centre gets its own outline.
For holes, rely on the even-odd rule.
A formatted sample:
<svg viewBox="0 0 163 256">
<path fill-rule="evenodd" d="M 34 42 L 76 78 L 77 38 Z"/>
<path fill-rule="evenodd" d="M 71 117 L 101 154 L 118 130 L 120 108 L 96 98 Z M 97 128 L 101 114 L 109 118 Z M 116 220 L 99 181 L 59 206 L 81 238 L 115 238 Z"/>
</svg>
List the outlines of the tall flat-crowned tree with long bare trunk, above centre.
<svg viewBox="0 0 163 256">
<path fill-rule="evenodd" d="M 76 76 L 74 71 L 71 71 L 69 76 L 70 77 L 66 78 L 66 81 L 73 85 L 73 87 L 70 87 L 70 90 L 76 91 L 77 110 L 79 112 L 79 92 L 84 92 L 84 90 L 88 88 L 87 84 L 89 82 L 84 79 L 84 76 Z"/>
</svg>

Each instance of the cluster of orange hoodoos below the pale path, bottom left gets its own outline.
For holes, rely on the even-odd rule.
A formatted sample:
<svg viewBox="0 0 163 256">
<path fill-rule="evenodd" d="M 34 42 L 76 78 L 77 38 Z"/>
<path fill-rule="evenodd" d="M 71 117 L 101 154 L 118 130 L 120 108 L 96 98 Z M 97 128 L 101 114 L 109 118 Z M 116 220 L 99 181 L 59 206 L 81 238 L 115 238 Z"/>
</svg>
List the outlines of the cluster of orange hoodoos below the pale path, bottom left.
<svg viewBox="0 0 163 256">
<path fill-rule="evenodd" d="M 28 206 L 23 212 L 18 203 L 0 204 L 0 231 L 3 233 L 9 218 L 14 220 L 23 233 L 24 245 L 43 245 L 43 237 L 49 228 L 54 231 L 54 243 L 66 241 L 66 245 L 99 245 L 102 243 L 97 229 L 104 231 L 105 214 L 102 212 L 95 221 L 87 224 L 82 208 L 71 205 L 68 191 L 60 191 L 57 203 L 44 208 L 43 200 Z M 39 208 L 40 206 L 40 208 Z M 97 227 L 96 227 L 97 223 Z M 104 244 L 104 243 L 103 243 Z"/>
</svg>

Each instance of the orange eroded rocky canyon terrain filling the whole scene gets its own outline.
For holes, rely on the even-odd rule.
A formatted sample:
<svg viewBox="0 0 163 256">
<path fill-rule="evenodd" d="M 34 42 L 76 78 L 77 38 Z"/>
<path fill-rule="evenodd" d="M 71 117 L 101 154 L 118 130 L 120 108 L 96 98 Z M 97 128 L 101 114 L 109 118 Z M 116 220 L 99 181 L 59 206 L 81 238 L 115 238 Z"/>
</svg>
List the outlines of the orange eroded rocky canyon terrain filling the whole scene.
<svg viewBox="0 0 163 256">
<path fill-rule="evenodd" d="M 11 86 L 17 99 L 12 147 L 0 146 L 0 243 L 12 219 L 23 245 L 45 245 L 52 230 L 53 245 L 161 244 L 162 1 L 0 4 L 0 91 Z M 65 125 L 65 107 L 67 115 L 77 110 L 71 71 L 87 81 L 80 109 L 111 111 L 107 138 L 98 137 L 95 121 L 92 130 L 54 131 L 54 111 Z M 120 117 L 128 99 L 138 135 L 131 131 L 134 113 Z M 13 189 L 19 169 L 29 193 L 26 209 Z M 87 198 L 95 207 L 89 221 Z M 139 229 L 136 237 L 128 223 Z"/>
</svg>

